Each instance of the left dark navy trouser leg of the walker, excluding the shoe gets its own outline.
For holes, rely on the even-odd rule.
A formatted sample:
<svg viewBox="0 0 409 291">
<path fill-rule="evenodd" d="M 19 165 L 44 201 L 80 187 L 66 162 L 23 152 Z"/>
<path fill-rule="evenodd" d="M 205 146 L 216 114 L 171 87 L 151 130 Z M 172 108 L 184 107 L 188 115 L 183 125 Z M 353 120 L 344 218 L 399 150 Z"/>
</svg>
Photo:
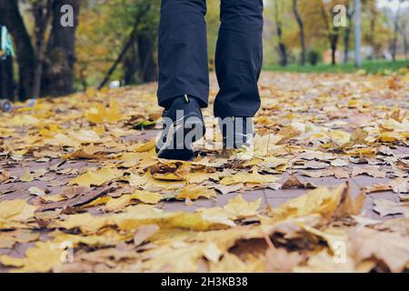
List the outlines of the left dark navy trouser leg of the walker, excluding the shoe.
<svg viewBox="0 0 409 291">
<path fill-rule="evenodd" d="M 159 105 L 181 95 L 208 103 L 209 73 L 205 0 L 162 0 L 159 28 Z"/>
</svg>

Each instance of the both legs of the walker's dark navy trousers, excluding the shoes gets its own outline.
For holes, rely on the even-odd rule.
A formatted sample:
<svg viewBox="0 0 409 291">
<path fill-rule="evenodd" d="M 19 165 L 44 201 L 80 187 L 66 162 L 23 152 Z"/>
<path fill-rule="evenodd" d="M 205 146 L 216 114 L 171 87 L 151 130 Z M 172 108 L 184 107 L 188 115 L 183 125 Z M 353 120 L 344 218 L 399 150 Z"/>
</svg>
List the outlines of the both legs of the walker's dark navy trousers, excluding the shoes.
<svg viewBox="0 0 409 291">
<path fill-rule="evenodd" d="M 191 95 L 208 105 L 205 0 L 162 0 L 159 29 L 159 105 Z M 263 0 L 221 0 L 215 69 L 217 117 L 250 117 L 260 108 Z"/>
</svg>

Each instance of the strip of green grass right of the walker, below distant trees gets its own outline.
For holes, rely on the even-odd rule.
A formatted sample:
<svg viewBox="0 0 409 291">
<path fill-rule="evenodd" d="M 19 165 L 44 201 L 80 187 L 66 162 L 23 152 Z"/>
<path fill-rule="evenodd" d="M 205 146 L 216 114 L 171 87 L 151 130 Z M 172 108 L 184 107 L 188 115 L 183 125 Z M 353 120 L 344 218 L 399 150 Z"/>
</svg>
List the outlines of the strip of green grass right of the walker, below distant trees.
<svg viewBox="0 0 409 291">
<path fill-rule="evenodd" d="M 386 60 L 364 61 L 361 68 L 355 68 L 353 63 L 350 64 L 318 64 L 318 65 L 265 65 L 264 70 L 274 72 L 290 72 L 290 73 L 354 73 L 359 70 L 364 70 L 367 74 L 387 74 L 388 72 L 397 72 L 401 68 L 409 67 L 409 59 L 397 60 L 395 62 Z"/>
</svg>

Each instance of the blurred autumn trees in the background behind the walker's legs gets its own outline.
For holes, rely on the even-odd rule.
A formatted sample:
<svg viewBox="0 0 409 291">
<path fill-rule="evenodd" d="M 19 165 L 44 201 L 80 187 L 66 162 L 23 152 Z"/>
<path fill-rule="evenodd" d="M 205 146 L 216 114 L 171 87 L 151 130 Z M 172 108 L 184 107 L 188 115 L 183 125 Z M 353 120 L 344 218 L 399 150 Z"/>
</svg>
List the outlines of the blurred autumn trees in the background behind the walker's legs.
<svg viewBox="0 0 409 291">
<path fill-rule="evenodd" d="M 264 0 L 264 65 L 298 69 L 354 64 L 354 7 L 358 0 Z M 407 59 L 409 1 L 360 0 L 366 62 Z M 220 0 L 207 0 L 209 65 L 219 26 Z M 74 9 L 73 25 L 61 25 Z M 0 62 L 0 97 L 25 100 L 68 95 L 118 80 L 157 80 L 160 0 L 0 0 L 0 25 L 13 36 L 16 58 Z M 344 5 L 345 24 L 336 25 Z M 70 19 L 65 19 L 70 21 Z M 297 69 L 297 70 L 298 70 Z"/>
</svg>

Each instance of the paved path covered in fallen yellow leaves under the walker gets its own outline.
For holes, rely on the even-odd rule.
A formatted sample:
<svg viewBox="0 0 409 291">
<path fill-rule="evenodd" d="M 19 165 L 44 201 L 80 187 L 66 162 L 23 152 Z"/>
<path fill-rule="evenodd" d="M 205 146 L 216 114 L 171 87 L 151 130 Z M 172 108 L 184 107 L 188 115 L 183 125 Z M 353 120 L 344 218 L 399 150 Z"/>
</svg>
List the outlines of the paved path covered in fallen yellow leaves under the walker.
<svg viewBox="0 0 409 291">
<path fill-rule="evenodd" d="M 210 107 L 194 163 L 155 157 L 155 84 L 2 113 L 0 270 L 404 271 L 409 75 L 260 85 L 254 148 Z"/>
</svg>

